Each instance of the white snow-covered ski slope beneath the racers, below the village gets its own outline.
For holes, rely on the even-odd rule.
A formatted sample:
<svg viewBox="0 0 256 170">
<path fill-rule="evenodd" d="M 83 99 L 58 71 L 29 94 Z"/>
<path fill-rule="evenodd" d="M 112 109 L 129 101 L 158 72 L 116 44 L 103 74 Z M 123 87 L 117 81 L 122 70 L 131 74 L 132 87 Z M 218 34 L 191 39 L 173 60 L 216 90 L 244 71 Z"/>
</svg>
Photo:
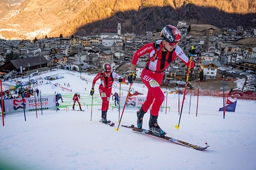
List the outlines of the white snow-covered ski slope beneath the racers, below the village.
<svg viewBox="0 0 256 170">
<path fill-rule="evenodd" d="M 95 75 L 55 70 L 40 76 L 44 78 L 49 75 L 64 76 L 52 83 L 60 86 L 65 83 L 65 88 L 69 83 L 67 89 L 72 89 L 72 92 L 60 87 L 52 89 L 51 85 L 43 84 L 37 86 L 42 94 L 61 92 L 64 103 L 72 104 L 71 96 L 80 92 L 82 99 L 91 101 L 89 91 Z M 4 88 L 10 85 L 9 82 Z M 134 83 L 132 87 L 146 94 L 147 89 L 142 84 Z M 126 97 L 128 88 L 129 85 L 121 85 L 121 95 Z M 114 92 L 119 92 L 118 83 L 113 86 Z M 95 97 L 98 94 L 96 84 Z M 221 112 L 211 114 L 211 105 L 220 104 L 219 107 L 222 107 L 223 99 L 214 97 L 199 97 L 199 104 L 213 98 L 219 102 L 208 102 L 206 107 L 199 106 L 201 111 L 198 116 L 195 115 L 196 105 L 192 104 L 193 111 L 188 114 L 186 108 L 189 100 L 196 102 L 196 98 L 186 95 L 177 130 L 179 98 L 178 95 L 168 94 L 170 111 L 160 110 L 158 124 L 167 132 L 166 136 L 198 146 L 208 143 L 210 147 L 204 151 L 147 136 L 121 125 L 116 130 L 122 113 L 120 124 L 136 124 L 137 110 L 129 107 L 124 111 L 121 109 L 120 113 L 117 108 L 108 109 L 107 118 L 115 123 L 114 127 L 99 123 L 101 100 L 95 98 L 93 103 L 98 105 L 93 105 L 92 110 L 90 105 L 82 104 L 85 111 L 72 111 L 71 107 L 57 112 L 38 111 L 38 117 L 36 112 L 26 113 L 26 121 L 24 113 L 7 115 L 4 126 L 0 124 L 0 169 L 256 169 L 256 102 L 238 100 L 236 111 L 226 112 L 223 118 Z M 110 105 L 113 105 L 112 99 Z M 77 103 L 75 108 L 79 108 Z M 145 129 L 148 129 L 148 120 L 149 111 L 143 119 Z"/>
</svg>

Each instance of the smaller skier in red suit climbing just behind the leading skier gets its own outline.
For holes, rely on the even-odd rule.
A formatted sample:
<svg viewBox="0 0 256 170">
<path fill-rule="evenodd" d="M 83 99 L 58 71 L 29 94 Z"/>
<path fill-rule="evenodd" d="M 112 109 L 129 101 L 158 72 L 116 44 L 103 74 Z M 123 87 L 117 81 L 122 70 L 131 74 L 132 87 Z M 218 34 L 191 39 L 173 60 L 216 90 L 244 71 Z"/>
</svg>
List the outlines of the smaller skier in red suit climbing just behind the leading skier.
<svg viewBox="0 0 256 170">
<path fill-rule="evenodd" d="M 110 95 L 112 91 L 112 85 L 114 79 L 118 79 L 118 82 L 125 82 L 124 78 L 121 78 L 117 73 L 111 71 L 110 63 L 104 63 L 102 66 L 102 72 L 98 73 L 92 81 L 92 89 L 90 90 L 90 95 L 94 94 L 94 86 L 98 79 L 101 80 L 99 85 L 99 95 L 101 95 L 102 105 L 101 105 L 101 118 L 104 123 L 107 123 L 107 111 L 108 105 L 110 103 Z"/>
</svg>

